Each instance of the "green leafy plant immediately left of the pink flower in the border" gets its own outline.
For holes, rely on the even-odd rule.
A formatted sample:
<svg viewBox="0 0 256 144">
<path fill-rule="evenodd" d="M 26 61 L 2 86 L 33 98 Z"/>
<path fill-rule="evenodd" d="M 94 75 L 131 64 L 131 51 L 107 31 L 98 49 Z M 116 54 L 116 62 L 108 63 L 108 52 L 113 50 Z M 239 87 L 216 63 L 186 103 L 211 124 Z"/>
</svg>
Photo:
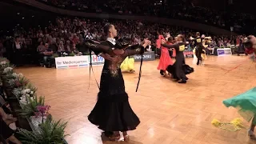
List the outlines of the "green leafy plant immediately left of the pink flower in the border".
<svg viewBox="0 0 256 144">
<path fill-rule="evenodd" d="M 27 98 L 29 101 L 28 104 L 22 106 L 22 110 L 20 110 L 20 115 L 24 118 L 29 118 L 35 115 L 35 112 L 38 112 L 37 106 L 45 105 L 45 98 L 40 96 L 39 99 L 37 96 L 34 97 L 34 100 L 31 98 Z"/>
</svg>

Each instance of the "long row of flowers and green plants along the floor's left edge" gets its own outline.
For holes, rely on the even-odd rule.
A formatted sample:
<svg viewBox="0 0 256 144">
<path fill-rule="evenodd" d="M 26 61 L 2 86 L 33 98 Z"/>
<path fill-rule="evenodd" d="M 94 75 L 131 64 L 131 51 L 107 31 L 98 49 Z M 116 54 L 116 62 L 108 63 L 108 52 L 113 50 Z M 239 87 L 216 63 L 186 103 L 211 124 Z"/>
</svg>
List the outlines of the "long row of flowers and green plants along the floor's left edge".
<svg viewBox="0 0 256 144">
<path fill-rule="evenodd" d="M 6 58 L 0 58 L 0 76 L 2 82 L 11 85 L 9 89 L 18 99 L 22 110 L 18 111 L 23 118 L 28 118 L 34 131 L 19 130 L 23 143 L 63 143 L 66 137 L 67 122 L 54 122 L 49 114 L 50 106 L 45 105 L 45 98 L 36 94 L 37 87 L 23 76 L 14 73 L 13 66 Z M 11 97 L 11 95 L 10 95 Z M 14 97 L 14 98 L 15 98 Z"/>
</svg>

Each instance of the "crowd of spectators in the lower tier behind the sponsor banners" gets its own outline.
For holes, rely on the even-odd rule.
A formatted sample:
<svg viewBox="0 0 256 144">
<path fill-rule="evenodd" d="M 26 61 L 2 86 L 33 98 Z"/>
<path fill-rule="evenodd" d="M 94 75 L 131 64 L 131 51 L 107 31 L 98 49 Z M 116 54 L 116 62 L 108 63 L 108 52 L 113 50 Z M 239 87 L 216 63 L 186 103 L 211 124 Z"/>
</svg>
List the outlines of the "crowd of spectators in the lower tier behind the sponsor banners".
<svg viewBox="0 0 256 144">
<path fill-rule="evenodd" d="M 104 40 L 102 27 L 110 22 L 116 26 L 119 37 L 129 37 L 133 42 L 141 42 L 149 38 L 153 45 L 158 34 L 170 33 L 172 36 L 184 34 L 186 38 L 194 36 L 196 30 L 188 30 L 179 26 L 166 26 L 157 23 L 131 21 L 131 20 L 102 20 L 86 18 L 56 18 L 44 28 L 30 28 L 29 30 L 14 30 L 13 37 L 0 40 L 0 55 L 4 55 L 14 62 L 16 66 L 22 65 L 27 59 L 34 62 L 42 60 L 46 66 L 49 59 L 66 54 L 88 54 L 84 41 L 93 38 L 97 41 Z M 203 33 L 202 34 L 206 34 Z M 238 44 L 234 36 L 212 36 L 214 46 L 230 46 Z"/>
</svg>

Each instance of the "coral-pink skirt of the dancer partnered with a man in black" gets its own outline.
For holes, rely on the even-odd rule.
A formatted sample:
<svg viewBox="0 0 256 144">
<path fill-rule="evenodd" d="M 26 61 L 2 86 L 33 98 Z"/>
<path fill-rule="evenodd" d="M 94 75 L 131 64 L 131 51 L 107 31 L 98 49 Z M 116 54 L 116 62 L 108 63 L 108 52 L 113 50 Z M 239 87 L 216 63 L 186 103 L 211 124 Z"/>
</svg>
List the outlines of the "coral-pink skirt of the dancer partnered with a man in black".
<svg viewBox="0 0 256 144">
<path fill-rule="evenodd" d="M 170 58 L 169 50 L 167 48 L 162 48 L 161 57 L 158 64 L 158 70 L 166 70 L 167 66 L 173 64 L 174 62 Z"/>
</svg>

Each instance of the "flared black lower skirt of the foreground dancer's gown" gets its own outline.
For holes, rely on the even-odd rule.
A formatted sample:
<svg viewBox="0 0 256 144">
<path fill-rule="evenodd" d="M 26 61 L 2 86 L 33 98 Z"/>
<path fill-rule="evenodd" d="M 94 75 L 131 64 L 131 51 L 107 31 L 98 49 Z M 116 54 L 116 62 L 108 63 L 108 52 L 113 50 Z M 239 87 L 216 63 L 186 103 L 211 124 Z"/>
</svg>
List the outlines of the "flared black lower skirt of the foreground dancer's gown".
<svg viewBox="0 0 256 144">
<path fill-rule="evenodd" d="M 128 95 L 98 93 L 98 102 L 88 119 L 104 131 L 135 130 L 140 123 L 130 107 Z"/>
</svg>

